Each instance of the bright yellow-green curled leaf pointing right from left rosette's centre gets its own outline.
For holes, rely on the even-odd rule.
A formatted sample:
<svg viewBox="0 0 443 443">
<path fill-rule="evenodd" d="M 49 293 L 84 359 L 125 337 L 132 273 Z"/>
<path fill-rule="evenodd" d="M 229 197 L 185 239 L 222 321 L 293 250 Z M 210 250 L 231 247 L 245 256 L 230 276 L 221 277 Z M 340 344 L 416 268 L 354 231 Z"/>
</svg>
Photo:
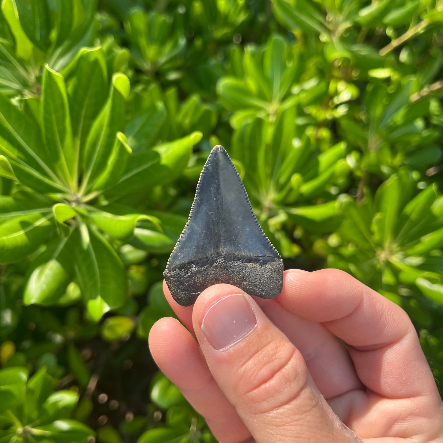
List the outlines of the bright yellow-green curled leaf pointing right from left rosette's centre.
<svg viewBox="0 0 443 443">
<path fill-rule="evenodd" d="M 115 215 L 97 210 L 91 211 L 90 216 L 103 232 L 116 238 L 132 237 L 138 221 L 152 219 L 144 214 Z"/>
</svg>

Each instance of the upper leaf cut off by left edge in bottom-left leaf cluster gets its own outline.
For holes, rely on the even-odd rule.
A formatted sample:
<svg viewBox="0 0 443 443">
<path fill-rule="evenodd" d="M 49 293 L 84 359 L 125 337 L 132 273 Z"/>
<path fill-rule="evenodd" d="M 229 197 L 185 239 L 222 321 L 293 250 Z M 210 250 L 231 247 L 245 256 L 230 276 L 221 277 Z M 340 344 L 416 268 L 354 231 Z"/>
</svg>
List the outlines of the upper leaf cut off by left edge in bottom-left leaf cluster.
<svg viewBox="0 0 443 443">
<path fill-rule="evenodd" d="M 0 370 L 0 410 L 23 403 L 28 370 L 12 367 Z"/>
</svg>

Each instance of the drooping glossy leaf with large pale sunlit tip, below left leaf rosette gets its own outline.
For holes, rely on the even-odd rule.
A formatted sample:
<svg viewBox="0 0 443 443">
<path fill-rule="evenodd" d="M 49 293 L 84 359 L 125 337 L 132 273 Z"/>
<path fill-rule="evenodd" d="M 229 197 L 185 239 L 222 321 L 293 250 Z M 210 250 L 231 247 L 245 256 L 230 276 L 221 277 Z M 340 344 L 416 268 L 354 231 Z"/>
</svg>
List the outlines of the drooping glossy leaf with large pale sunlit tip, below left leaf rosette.
<svg viewBox="0 0 443 443">
<path fill-rule="evenodd" d="M 65 294 L 74 276 L 72 247 L 68 237 L 56 238 L 34 260 L 23 293 L 26 305 L 51 306 Z"/>
</svg>

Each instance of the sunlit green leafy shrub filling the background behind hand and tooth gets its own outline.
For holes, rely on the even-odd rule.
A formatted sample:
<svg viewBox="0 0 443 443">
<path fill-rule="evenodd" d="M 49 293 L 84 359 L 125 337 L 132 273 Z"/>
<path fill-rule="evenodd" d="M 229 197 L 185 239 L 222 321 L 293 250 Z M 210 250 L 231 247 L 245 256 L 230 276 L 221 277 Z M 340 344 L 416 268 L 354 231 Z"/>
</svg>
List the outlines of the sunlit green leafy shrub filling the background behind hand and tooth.
<svg viewBox="0 0 443 443">
<path fill-rule="evenodd" d="M 0 442 L 213 442 L 161 273 L 227 148 L 287 268 L 412 318 L 443 392 L 442 0 L 3 0 Z"/>
</svg>

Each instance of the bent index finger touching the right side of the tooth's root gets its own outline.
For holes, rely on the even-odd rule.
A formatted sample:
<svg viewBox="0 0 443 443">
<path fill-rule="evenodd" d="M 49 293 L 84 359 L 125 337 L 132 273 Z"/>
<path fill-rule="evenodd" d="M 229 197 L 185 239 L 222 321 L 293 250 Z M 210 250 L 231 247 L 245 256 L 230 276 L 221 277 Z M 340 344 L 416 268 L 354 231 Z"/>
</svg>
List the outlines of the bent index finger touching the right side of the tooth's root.
<svg viewBox="0 0 443 443">
<path fill-rule="evenodd" d="M 286 273 L 278 303 L 346 342 L 365 386 L 389 398 L 438 396 L 416 330 L 401 307 L 338 269 Z"/>
</svg>

